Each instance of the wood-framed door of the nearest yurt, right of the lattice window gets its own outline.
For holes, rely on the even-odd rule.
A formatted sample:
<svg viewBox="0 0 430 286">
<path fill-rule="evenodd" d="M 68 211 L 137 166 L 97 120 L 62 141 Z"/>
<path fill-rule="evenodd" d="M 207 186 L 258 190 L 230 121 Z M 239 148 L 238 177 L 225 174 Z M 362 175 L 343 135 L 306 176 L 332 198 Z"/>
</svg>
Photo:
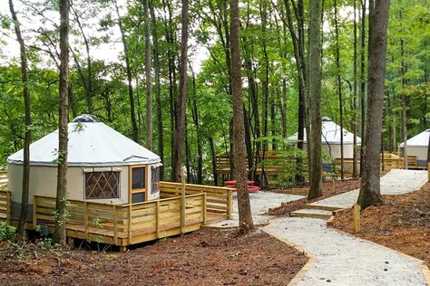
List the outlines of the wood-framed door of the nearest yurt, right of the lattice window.
<svg viewBox="0 0 430 286">
<path fill-rule="evenodd" d="M 148 186 L 147 166 L 130 167 L 130 198 L 131 203 L 142 203 L 147 200 Z"/>
</svg>

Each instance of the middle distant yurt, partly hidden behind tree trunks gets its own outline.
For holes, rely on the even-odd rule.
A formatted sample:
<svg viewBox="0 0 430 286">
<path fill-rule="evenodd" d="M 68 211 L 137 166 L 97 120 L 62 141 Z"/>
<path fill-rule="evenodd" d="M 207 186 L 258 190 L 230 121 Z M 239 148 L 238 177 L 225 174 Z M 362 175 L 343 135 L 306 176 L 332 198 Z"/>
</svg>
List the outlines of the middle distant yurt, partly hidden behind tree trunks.
<svg viewBox="0 0 430 286">
<path fill-rule="evenodd" d="M 342 134 L 341 134 L 342 133 Z M 304 144 L 306 148 L 307 138 L 306 129 L 304 130 Z M 321 142 L 322 149 L 326 151 L 333 159 L 340 157 L 340 138 L 343 137 L 344 158 L 352 158 L 354 154 L 354 134 L 343 128 L 340 132 L 340 126 L 328 117 L 322 118 Z M 290 136 L 289 140 L 298 139 L 298 133 Z M 361 144 L 361 138 L 357 137 L 357 145 Z"/>
</svg>

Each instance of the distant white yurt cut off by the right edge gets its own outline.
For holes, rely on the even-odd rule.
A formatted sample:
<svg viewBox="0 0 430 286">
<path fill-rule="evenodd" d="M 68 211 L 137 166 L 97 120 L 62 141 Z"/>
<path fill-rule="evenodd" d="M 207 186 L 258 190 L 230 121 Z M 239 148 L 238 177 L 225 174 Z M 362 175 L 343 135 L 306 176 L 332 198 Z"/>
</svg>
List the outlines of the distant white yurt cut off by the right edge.
<svg viewBox="0 0 430 286">
<path fill-rule="evenodd" d="M 416 165 L 419 167 L 427 166 L 428 138 L 430 137 L 430 129 L 409 138 L 406 141 L 407 156 L 416 156 Z M 399 145 L 399 154 L 403 156 L 405 142 Z"/>
</svg>

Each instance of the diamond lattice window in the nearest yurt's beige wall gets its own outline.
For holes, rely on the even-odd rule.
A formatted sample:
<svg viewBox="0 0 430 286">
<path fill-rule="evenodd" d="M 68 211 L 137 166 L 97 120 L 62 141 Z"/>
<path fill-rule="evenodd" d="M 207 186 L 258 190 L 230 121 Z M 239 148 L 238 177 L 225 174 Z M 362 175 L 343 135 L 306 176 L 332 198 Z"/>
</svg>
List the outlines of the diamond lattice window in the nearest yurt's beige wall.
<svg viewBox="0 0 430 286">
<path fill-rule="evenodd" d="M 120 194 L 120 172 L 85 173 L 85 198 L 117 198 Z"/>
</svg>

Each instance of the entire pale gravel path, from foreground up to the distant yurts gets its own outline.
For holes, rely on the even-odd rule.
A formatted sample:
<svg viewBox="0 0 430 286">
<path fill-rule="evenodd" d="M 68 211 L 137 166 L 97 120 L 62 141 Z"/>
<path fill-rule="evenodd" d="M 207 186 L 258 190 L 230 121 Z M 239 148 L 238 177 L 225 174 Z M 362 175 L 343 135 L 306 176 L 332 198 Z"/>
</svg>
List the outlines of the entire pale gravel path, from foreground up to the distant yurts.
<svg viewBox="0 0 430 286">
<path fill-rule="evenodd" d="M 426 171 L 392 170 L 381 178 L 381 193 L 400 195 L 425 184 Z M 350 207 L 357 201 L 358 190 L 332 196 L 315 204 Z M 300 246 L 314 257 L 314 264 L 298 285 L 426 285 L 420 262 L 375 243 L 341 234 L 327 228 L 318 218 L 263 215 L 269 207 L 299 199 L 301 195 L 269 192 L 250 194 L 255 224 L 269 223 L 263 231 L 288 244 Z M 233 220 L 212 224 L 216 227 L 237 226 L 239 215 L 236 199 Z"/>
</svg>

